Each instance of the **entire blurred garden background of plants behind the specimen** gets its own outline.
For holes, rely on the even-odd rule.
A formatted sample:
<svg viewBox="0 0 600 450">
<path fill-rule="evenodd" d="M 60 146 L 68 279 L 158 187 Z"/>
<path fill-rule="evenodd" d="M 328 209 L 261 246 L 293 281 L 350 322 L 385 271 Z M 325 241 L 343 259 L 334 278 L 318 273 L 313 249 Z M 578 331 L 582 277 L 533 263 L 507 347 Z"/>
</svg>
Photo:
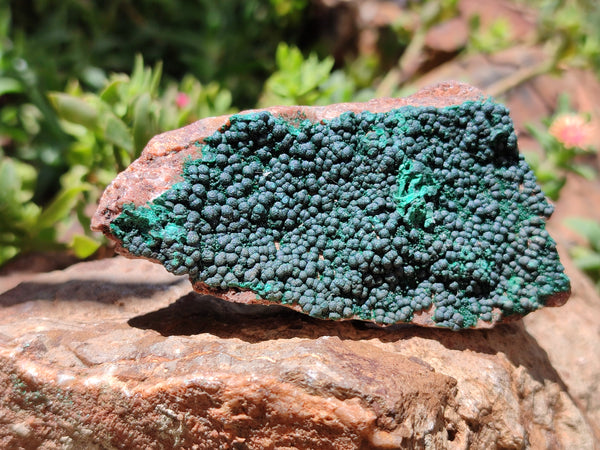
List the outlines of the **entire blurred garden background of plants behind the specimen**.
<svg viewBox="0 0 600 450">
<path fill-rule="evenodd" d="M 493 4 L 506 15 L 486 18 Z M 514 49 L 540 56 L 487 81 L 462 78 L 500 100 L 541 75 L 598 80 L 599 23 L 595 0 L 2 2 L 0 265 L 103 248 L 89 217 L 157 133 L 247 108 L 406 95 L 448 64 Z M 554 200 L 569 177 L 596 179 L 595 119 L 578 108 L 560 96 L 522 131 Z M 574 255 L 598 280 L 600 227 L 571 226 L 587 239 Z"/>
</svg>

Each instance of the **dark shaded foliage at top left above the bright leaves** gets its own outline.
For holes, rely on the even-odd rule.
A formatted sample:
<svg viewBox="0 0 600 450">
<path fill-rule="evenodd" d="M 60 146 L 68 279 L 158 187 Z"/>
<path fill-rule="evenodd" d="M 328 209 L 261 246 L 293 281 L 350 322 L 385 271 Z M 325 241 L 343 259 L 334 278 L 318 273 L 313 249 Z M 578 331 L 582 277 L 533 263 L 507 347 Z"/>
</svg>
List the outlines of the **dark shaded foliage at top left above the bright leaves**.
<svg viewBox="0 0 600 450">
<path fill-rule="evenodd" d="M 298 39 L 307 6 L 308 0 L 11 0 L 7 8 L 22 57 L 44 90 L 62 89 L 72 77 L 99 89 L 104 73 L 130 73 L 131 55 L 143 51 L 150 64 L 163 61 L 169 77 L 219 80 L 236 105 L 251 107 L 277 44 Z"/>
</svg>

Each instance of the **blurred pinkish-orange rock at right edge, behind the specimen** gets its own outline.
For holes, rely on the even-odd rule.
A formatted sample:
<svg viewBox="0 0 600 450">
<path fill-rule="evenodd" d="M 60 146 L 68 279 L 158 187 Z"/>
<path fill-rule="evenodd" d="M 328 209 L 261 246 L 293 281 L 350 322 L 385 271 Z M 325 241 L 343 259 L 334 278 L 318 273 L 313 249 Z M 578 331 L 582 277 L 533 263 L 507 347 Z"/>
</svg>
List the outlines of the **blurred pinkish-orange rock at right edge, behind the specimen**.
<svg viewBox="0 0 600 450">
<path fill-rule="evenodd" d="M 589 205 L 600 204 L 598 181 L 572 175 L 556 205 L 549 231 L 556 237 L 561 260 L 571 275 L 573 303 L 556 314 L 548 309 L 524 319 L 527 330 L 548 352 L 550 361 L 561 374 L 573 398 L 587 411 L 600 439 L 600 295 L 593 282 L 574 267 L 567 249 L 582 238 L 564 224 L 572 216 L 600 222 L 600 211 Z M 558 312 L 558 311 L 556 311 Z M 563 331 L 564 330 L 564 331 Z"/>
</svg>

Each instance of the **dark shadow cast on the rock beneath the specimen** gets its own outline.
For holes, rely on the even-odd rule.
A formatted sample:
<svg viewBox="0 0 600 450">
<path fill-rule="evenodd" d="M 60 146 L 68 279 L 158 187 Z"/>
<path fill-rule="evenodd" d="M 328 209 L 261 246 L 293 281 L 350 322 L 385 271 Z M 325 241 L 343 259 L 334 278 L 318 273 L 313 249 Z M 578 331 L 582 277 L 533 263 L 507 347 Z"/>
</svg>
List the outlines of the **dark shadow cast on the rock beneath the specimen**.
<svg viewBox="0 0 600 450">
<path fill-rule="evenodd" d="M 384 328 L 357 320 L 316 319 L 284 306 L 246 305 L 190 293 L 166 308 L 133 317 L 128 324 L 155 330 L 163 336 L 208 333 L 249 343 L 322 336 L 337 336 L 343 340 L 378 339 L 385 343 L 412 338 L 436 340 L 449 350 L 489 355 L 503 353 L 512 364 L 525 367 L 539 382 L 550 380 L 565 388 L 548 354 L 527 332 L 521 320 L 492 329 L 459 332 L 403 324 Z"/>
</svg>

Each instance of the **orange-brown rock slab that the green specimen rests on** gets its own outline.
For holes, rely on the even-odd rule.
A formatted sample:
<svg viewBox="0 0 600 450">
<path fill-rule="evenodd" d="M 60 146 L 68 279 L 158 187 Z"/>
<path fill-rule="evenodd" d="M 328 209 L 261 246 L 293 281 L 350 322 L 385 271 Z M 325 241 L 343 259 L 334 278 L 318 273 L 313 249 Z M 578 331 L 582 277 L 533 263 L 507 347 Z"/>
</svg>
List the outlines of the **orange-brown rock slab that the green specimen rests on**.
<svg viewBox="0 0 600 450">
<path fill-rule="evenodd" d="M 381 329 L 190 289 L 119 257 L 0 293 L 0 447 L 594 446 L 580 368 L 565 384 L 522 321 Z"/>
</svg>

